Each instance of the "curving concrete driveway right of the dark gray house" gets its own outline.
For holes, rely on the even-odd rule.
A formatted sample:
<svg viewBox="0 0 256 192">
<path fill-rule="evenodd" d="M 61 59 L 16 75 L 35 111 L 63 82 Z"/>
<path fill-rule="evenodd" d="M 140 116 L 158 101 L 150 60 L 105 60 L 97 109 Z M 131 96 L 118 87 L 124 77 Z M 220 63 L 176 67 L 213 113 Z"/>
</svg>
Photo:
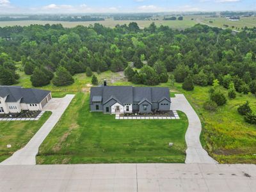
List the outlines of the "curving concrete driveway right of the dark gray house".
<svg viewBox="0 0 256 192">
<path fill-rule="evenodd" d="M 200 143 L 200 133 L 202 131 L 200 118 L 186 97 L 183 94 L 175 94 L 175 97 L 171 98 L 171 100 L 172 110 L 183 111 L 188 116 L 189 125 L 185 135 L 188 148 L 186 150 L 185 163 L 218 163 L 207 154 Z"/>
</svg>

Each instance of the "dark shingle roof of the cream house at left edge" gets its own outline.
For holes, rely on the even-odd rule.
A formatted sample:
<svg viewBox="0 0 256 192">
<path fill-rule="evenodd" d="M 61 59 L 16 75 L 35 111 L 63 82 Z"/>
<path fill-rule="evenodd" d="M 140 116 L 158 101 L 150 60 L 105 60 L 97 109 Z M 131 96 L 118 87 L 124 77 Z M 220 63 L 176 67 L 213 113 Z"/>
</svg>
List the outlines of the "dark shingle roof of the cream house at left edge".
<svg viewBox="0 0 256 192">
<path fill-rule="evenodd" d="M 49 94 L 50 91 L 20 86 L 0 86 L 0 97 L 7 97 L 6 102 L 17 102 L 20 100 L 26 104 L 38 104 Z"/>
</svg>

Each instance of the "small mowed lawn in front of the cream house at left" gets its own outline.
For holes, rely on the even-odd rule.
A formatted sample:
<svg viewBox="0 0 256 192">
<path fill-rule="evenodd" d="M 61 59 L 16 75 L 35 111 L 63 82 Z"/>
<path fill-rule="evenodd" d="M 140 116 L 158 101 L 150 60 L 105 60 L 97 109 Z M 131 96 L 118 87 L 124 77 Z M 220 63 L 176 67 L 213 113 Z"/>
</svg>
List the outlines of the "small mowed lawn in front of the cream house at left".
<svg viewBox="0 0 256 192">
<path fill-rule="evenodd" d="M 24 147 L 33 135 L 51 116 L 45 112 L 38 121 L 0 122 L 0 162 L 12 156 L 13 152 Z M 7 148 L 6 145 L 12 145 Z"/>
</svg>

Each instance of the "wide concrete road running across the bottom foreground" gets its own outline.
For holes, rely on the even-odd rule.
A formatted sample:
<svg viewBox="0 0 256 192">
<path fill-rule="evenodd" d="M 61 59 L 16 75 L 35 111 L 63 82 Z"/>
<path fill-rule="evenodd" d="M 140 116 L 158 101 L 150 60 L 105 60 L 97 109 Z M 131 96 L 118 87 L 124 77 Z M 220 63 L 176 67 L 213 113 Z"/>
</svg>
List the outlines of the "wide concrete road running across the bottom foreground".
<svg viewBox="0 0 256 192">
<path fill-rule="evenodd" d="M 255 191 L 255 164 L 0 166 L 0 191 Z"/>
</svg>

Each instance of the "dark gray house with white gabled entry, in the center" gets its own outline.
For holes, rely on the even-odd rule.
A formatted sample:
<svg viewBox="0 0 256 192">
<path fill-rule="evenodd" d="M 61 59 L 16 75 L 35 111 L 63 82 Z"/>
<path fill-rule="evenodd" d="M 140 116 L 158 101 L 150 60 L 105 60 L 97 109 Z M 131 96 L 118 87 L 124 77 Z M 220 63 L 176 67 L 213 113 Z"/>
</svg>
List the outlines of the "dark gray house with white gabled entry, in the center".
<svg viewBox="0 0 256 192">
<path fill-rule="evenodd" d="M 150 113 L 170 110 L 170 90 L 161 87 L 104 86 L 91 88 L 91 111 Z"/>
</svg>

